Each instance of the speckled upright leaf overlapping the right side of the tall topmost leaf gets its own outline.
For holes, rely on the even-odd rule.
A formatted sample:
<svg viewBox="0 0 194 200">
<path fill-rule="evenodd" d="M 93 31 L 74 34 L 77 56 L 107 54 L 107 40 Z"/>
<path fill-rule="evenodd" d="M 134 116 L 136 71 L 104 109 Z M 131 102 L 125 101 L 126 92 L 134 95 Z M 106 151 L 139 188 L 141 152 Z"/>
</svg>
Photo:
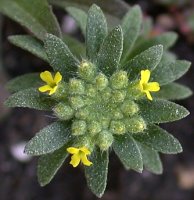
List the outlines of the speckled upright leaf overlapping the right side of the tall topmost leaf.
<svg viewBox="0 0 194 200">
<path fill-rule="evenodd" d="M 106 75 L 119 68 L 123 50 L 123 33 L 120 26 L 114 28 L 105 38 L 97 58 L 97 66 Z"/>
</svg>

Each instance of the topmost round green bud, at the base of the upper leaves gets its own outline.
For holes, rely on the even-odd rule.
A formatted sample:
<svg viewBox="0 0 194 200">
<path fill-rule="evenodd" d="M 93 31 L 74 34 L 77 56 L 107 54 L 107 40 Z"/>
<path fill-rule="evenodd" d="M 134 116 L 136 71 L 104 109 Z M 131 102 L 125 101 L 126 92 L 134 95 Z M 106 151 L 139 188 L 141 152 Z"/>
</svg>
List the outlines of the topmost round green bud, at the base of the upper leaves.
<svg viewBox="0 0 194 200">
<path fill-rule="evenodd" d="M 92 81 L 96 74 L 96 67 L 92 63 L 84 60 L 78 68 L 78 73 L 82 79 Z"/>
</svg>

